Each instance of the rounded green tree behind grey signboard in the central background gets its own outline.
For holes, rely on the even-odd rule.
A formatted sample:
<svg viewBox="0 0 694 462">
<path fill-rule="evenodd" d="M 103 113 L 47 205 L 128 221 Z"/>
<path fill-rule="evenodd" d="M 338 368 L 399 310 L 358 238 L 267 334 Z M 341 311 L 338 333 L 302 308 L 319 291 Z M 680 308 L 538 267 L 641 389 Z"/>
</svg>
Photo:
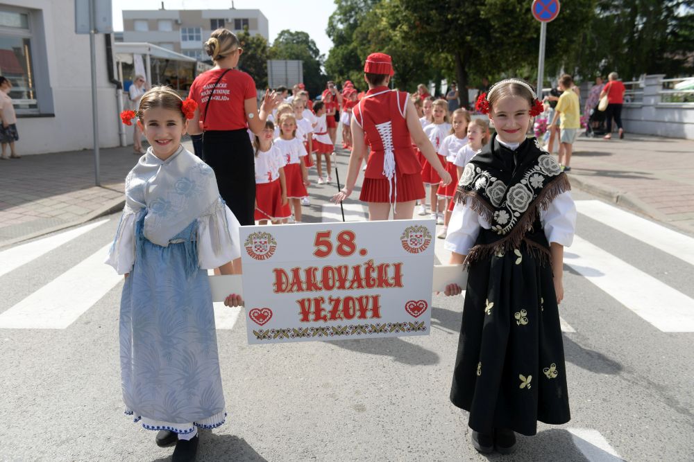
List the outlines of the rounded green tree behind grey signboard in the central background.
<svg viewBox="0 0 694 462">
<path fill-rule="evenodd" d="M 269 54 L 271 60 L 303 61 L 303 84 L 312 97 L 325 89 L 328 78 L 321 70 L 323 55 L 307 33 L 282 30 L 270 47 Z"/>
</svg>

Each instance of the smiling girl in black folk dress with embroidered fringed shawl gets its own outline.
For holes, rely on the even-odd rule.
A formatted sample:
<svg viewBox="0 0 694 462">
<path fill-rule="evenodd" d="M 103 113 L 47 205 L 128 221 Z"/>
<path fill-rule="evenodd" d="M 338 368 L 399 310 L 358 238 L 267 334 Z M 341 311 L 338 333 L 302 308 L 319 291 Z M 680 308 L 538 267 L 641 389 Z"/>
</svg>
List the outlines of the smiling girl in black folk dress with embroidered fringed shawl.
<svg viewBox="0 0 694 462">
<path fill-rule="evenodd" d="M 450 400 L 470 412 L 476 450 L 508 454 L 514 432 L 570 419 L 558 304 L 576 209 L 557 161 L 526 139 L 542 111 L 532 87 L 502 80 L 477 109 L 497 134 L 463 170 L 448 226 L 450 263 L 468 265 Z"/>
</svg>

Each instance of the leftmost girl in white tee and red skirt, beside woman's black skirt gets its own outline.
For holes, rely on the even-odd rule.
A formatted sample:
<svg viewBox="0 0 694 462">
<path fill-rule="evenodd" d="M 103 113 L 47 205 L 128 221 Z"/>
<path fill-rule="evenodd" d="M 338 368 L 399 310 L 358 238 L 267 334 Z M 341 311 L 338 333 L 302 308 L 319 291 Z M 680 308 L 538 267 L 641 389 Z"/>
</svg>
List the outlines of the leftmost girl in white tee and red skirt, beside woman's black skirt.
<svg viewBox="0 0 694 462">
<path fill-rule="evenodd" d="M 260 136 L 254 136 L 255 148 L 255 220 L 258 224 L 279 224 L 291 216 L 285 179 L 286 159 L 272 143 L 275 126 L 266 122 Z"/>
</svg>

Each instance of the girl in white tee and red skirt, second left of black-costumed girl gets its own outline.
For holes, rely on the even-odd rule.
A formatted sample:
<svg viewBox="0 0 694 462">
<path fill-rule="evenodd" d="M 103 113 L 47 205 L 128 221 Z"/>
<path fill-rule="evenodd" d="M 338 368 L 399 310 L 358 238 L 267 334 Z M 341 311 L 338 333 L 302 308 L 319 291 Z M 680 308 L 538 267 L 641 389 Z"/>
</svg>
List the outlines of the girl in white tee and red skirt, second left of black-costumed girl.
<svg viewBox="0 0 694 462">
<path fill-rule="evenodd" d="M 441 148 L 439 153 L 446 158 L 446 171 L 450 173 L 452 181 L 446 186 L 439 184 L 439 189 L 437 190 L 437 197 L 444 199 L 446 204 L 444 204 L 443 210 L 446 212 L 446 216 L 443 220 L 443 228 L 441 232 L 437 235 L 437 238 L 446 238 L 446 229 L 448 228 L 448 221 L 450 220 L 450 211 L 448 211 L 448 204 L 453 202 L 453 196 L 455 195 L 455 188 L 458 184 L 458 173 L 455 168 L 455 156 L 458 151 L 468 143 L 467 132 L 468 124 L 470 123 L 470 113 L 465 109 L 455 109 L 453 114 L 451 114 L 452 127 L 450 128 L 450 134 L 443 139 L 441 143 Z"/>
</svg>

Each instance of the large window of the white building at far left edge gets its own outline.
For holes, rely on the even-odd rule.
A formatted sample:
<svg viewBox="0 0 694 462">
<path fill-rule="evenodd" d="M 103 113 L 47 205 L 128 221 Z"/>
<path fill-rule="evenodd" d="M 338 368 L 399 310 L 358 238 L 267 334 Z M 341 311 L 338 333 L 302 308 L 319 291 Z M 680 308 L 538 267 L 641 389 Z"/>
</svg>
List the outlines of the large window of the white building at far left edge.
<svg viewBox="0 0 694 462">
<path fill-rule="evenodd" d="M 12 82 L 17 114 L 38 112 L 28 13 L 0 10 L 0 75 Z"/>
</svg>

